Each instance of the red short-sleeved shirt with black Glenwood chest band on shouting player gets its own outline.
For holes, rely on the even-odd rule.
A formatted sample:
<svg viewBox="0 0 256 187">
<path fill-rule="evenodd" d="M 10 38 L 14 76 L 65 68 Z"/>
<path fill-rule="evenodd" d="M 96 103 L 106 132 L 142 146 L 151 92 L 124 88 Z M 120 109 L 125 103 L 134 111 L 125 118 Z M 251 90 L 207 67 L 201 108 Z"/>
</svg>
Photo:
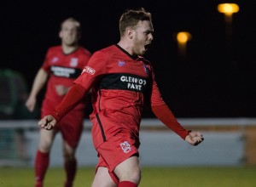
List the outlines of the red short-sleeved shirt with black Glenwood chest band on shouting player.
<svg viewBox="0 0 256 187">
<path fill-rule="evenodd" d="M 151 64 L 143 57 L 131 56 L 118 45 L 92 55 L 75 83 L 90 89 L 93 113 L 92 137 L 97 147 L 120 131 L 139 142 L 139 125 L 144 101 L 165 104 L 154 79 Z"/>
</svg>

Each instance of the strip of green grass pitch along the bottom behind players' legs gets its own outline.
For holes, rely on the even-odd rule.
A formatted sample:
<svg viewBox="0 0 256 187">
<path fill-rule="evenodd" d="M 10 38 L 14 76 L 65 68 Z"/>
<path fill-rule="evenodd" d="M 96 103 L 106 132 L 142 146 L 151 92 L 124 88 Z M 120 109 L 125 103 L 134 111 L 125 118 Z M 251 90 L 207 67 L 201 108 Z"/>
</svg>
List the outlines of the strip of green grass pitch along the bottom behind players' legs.
<svg viewBox="0 0 256 187">
<path fill-rule="evenodd" d="M 143 167 L 140 187 L 256 187 L 256 167 Z M 1 187 L 32 187 L 31 167 L 0 167 Z M 94 167 L 80 167 L 73 187 L 89 187 Z M 61 167 L 50 167 L 45 187 L 61 187 Z"/>
</svg>

